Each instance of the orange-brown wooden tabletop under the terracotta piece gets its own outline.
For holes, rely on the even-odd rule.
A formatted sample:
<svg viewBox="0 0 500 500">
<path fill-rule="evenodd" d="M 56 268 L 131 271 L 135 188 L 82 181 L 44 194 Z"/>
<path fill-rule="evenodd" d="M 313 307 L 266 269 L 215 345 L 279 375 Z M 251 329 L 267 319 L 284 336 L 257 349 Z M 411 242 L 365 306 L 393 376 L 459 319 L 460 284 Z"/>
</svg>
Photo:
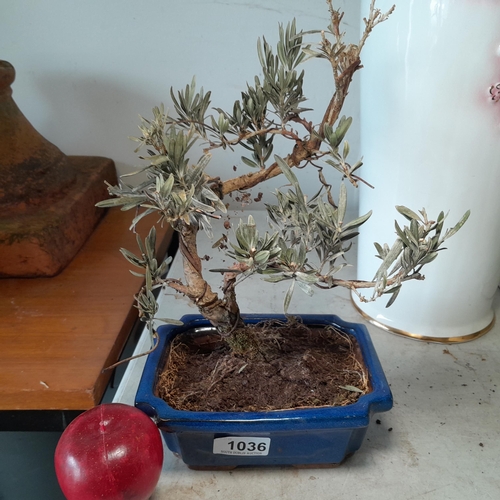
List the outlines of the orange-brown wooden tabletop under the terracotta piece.
<svg viewBox="0 0 500 500">
<path fill-rule="evenodd" d="M 119 358 L 137 318 L 133 295 L 141 280 L 119 252 L 137 249 L 131 218 L 109 211 L 56 277 L 0 280 L 0 415 L 73 415 L 101 401 L 112 373 L 102 370 Z M 142 237 L 151 222 L 139 226 Z M 172 230 L 157 230 L 163 256 Z"/>
</svg>

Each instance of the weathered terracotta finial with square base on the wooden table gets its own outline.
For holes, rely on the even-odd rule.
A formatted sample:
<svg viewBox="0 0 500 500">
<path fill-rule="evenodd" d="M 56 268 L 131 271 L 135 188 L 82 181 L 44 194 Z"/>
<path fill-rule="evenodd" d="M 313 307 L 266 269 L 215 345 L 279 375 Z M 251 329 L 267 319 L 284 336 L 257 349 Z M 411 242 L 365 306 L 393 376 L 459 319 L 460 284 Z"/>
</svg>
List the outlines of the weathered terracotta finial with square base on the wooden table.
<svg viewBox="0 0 500 500">
<path fill-rule="evenodd" d="M 104 210 L 112 160 L 66 156 L 12 99 L 16 72 L 0 61 L 0 278 L 53 276 L 71 261 Z"/>
</svg>

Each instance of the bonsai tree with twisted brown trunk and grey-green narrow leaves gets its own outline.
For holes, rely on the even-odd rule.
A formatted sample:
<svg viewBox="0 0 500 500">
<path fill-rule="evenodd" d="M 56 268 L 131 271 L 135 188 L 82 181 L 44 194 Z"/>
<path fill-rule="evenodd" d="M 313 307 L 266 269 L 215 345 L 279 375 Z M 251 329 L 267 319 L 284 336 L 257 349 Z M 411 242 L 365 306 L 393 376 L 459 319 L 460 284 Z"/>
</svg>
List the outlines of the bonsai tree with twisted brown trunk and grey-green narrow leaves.
<svg viewBox="0 0 500 500">
<path fill-rule="evenodd" d="M 357 187 L 364 182 L 358 176 L 361 161 L 349 160 L 349 143 L 345 139 L 352 119 L 341 116 L 354 73 L 361 68 L 361 51 L 371 31 L 385 21 L 386 13 L 371 2 L 364 19 L 364 32 L 358 44 L 347 44 L 341 31 L 343 14 L 327 0 L 330 24 L 323 31 L 298 31 L 295 21 L 279 27 L 276 49 L 259 40 L 257 54 L 262 79 L 255 77 L 241 92 L 232 109 L 211 107 L 211 94 L 197 90 L 195 80 L 183 90 L 171 91 L 175 115 L 163 106 L 153 110 L 153 118 L 142 118 L 141 136 L 135 140 L 139 150 L 145 147 L 147 179 L 138 186 L 124 179 L 109 186 L 112 198 L 99 203 L 102 207 L 121 206 L 134 209 L 132 228 L 144 216 L 154 213 L 160 224 L 168 223 L 179 233 L 179 250 L 184 263 L 184 280 L 165 277 L 166 265 L 154 258 L 154 228 L 142 243 L 140 255 L 122 250 L 124 256 L 142 269 L 145 286 L 137 296 L 140 315 L 153 332 L 158 309 L 153 290 L 170 287 L 192 300 L 201 314 L 226 336 L 242 326 L 236 301 L 236 286 L 249 275 L 260 274 L 268 282 L 289 282 L 284 309 L 288 309 L 296 288 L 312 295 L 315 290 L 348 288 L 362 300 L 374 300 L 389 294 L 391 304 L 408 280 L 422 279 L 424 265 L 434 260 L 444 241 L 465 223 L 468 213 L 452 229 L 444 230 L 444 213 L 429 220 L 425 210 L 419 214 L 405 207 L 397 210 L 409 221 L 401 228 L 396 223 L 397 239 L 392 246 L 375 244 L 380 268 L 371 281 L 345 280 L 337 276 L 346 265 L 345 254 L 359 227 L 371 212 L 346 220 L 346 182 Z M 313 37 L 316 43 L 306 43 Z M 334 92 L 326 100 L 320 123 L 307 119 L 303 94 L 303 63 L 310 58 L 330 64 Z M 274 154 L 276 141 L 289 144 L 289 154 Z M 201 158 L 190 158 L 196 141 L 205 149 Z M 208 170 L 214 149 L 242 152 L 241 162 L 247 172 L 227 179 L 212 177 Z M 308 168 L 318 178 L 318 192 L 308 198 L 294 170 Z M 337 173 L 342 178 L 340 191 L 334 193 L 328 178 Z M 234 175 L 231 170 L 231 174 Z M 284 174 L 287 191 L 276 192 L 276 204 L 268 205 L 273 233 L 260 233 L 253 218 L 240 222 L 234 230 L 228 255 L 235 261 L 229 269 L 218 269 L 223 275 L 222 295 L 209 286 L 197 249 L 200 230 L 211 235 L 211 220 L 226 211 L 224 197 L 235 191 L 247 193 L 267 179 Z M 371 289 L 368 297 L 361 290 Z"/>
</svg>

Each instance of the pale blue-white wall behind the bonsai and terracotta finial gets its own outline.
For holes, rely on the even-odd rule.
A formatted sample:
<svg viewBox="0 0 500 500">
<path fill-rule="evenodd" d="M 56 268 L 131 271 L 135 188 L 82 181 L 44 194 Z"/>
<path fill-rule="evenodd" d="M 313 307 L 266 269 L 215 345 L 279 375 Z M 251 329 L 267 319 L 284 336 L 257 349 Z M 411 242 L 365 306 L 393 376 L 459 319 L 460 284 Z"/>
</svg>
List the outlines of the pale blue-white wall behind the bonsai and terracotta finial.
<svg viewBox="0 0 500 500">
<path fill-rule="evenodd" d="M 359 0 L 336 5 L 357 41 Z M 66 154 L 107 156 L 126 173 L 139 164 L 128 140 L 138 114 L 149 117 L 161 102 L 172 109 L 170 87 L 193 75 L 212 90 L 214 106 L 232 107 L 260 73 L 257 38 L 274 44 L 278 23 L 294 17 L 299 28 L 326 27 L 325 0 L 16 0 L 0 7 L 0 59 L 16 68 L 14 99 L 40 133 Z M 319 110 L 310 118 L 319 121 L 332 91 L 330 69 L 325 61 L 305 68 L 306 105 Z M 345 109 L 356 122 L 358 92 L 355 82 Z M 355 161 L 357 126 L 349 139 Z M 217 155 L 212 166 L 227 177 L 241 154 Z"/>
</svg>

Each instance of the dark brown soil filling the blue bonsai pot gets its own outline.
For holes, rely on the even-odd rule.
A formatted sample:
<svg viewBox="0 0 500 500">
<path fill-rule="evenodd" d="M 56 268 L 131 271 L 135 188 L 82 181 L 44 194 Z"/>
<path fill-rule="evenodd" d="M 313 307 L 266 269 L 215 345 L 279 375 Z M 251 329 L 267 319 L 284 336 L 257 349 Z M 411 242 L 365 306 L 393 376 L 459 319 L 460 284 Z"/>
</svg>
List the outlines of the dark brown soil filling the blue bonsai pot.
<svg viewBox="0 0 500 500">
<path fill-rule="evenodd" d="M 158 393 L 178 410 L 266 411 L 345 406 L 369 392 L 356 340 L 300 323 L 260 325 L 252 355 L 231 352 L 217 334 L 177 336 Z"/>
</svg>

